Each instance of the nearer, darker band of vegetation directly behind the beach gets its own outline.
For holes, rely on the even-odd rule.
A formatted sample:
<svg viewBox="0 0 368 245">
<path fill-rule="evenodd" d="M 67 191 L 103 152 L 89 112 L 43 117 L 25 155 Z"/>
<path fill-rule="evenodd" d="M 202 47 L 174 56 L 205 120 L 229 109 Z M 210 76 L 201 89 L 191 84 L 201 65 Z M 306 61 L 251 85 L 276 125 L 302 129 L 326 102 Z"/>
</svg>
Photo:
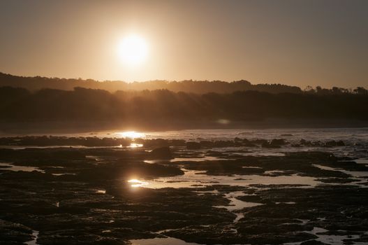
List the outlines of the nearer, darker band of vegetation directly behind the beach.
<svg viewBox="0 0 368 245">
<path fill-rule="evenodd" d="M 117 91 L 0 87 L 0 120 L 256 120 L 261 118 L 368 119 L 367 93 L 238 91 L 193 94 L 169 90 Z"/>
</svg>

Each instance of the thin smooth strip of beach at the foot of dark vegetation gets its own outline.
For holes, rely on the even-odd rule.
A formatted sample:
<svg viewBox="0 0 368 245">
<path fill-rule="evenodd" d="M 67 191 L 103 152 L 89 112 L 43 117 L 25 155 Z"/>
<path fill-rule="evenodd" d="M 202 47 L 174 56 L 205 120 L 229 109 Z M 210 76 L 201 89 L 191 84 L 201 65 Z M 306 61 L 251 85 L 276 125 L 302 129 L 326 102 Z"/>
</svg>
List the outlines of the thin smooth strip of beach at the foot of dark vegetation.
<svg viewBox="0 0 368 245">
<path fill-rule="evenodd" d="M 280 119 L 229 120 L 155 120 L 149 122 L 122 121 L 43 121 L 0 122 L 0 136 L 19 134 L 81 134 L 108 131 L 167 132 L 179 130 L 269 130 L 302 128 L 364 128 L 368 120 L 349 119 Z"/>
</svg>

